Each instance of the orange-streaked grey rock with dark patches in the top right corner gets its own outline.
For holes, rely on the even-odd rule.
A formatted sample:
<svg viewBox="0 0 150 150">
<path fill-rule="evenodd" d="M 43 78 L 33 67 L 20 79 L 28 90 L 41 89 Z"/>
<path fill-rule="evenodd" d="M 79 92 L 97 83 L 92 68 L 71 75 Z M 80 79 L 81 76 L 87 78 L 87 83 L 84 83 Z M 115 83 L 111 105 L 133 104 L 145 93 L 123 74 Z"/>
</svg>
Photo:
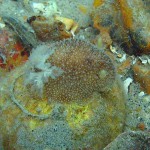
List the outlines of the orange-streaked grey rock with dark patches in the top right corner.
<svg viewBox="0 0 150 150">
<path fill-rule="evenodd" d="M 106 33 L 109 34 L 113 41 L 124 47 L 129 54 L 150 53 L 148 0 L 95 0 L 95 2 L 99 3 L 96 7 L 94 5 L 91 18 L 93 26 L 100 31 L 102 37 Z"/>
</svg>

